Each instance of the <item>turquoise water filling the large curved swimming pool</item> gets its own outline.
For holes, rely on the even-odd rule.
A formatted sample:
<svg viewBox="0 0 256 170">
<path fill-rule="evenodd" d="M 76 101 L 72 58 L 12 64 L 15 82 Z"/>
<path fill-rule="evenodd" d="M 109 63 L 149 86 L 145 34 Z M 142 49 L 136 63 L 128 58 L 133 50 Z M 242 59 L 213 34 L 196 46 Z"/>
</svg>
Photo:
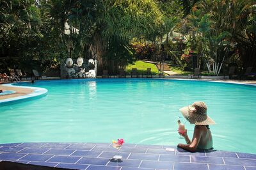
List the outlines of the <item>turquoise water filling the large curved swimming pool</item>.
<svg viewBox="0 0 256 170">
<path fill-rule="evenodd" d="M 177 145 L 179 108 L 202 100 L 217 150 L 256 153 L 256 86 L 161 79 L 36 81 L 45 97 L 1 106 L 0 143 L 105 142 Z M 184 122 L 184 119 L 181 121 Z M 192 137 L 193 125 L 186 123 Z"/>
</svg>

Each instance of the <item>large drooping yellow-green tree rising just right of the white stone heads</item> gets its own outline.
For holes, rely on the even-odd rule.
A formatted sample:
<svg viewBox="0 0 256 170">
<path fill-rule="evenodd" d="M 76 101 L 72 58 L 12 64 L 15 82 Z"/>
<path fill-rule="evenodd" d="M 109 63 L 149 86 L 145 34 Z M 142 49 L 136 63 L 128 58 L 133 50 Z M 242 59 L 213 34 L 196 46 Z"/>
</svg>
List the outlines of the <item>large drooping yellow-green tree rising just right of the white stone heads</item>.
<svg viewBox="0 0 256 170">
<path fill-rule="evenodd" d="M 118 66 L 113 66 L 111 63 L 116 57 L 106 58 L 106 56 L 116 56 L 118 49 L 127 50 L 125 53 L 130 54 L 131 41 L 134 38 L 145 38 L 155 31 L 156 26 L 163 23 L 161 16 L 153 0 L 104 1 L 104 11 L 97 22 L 99 29 L 95 31 L 92 44 L 92 51 L 97 55 L 99 72 L 106 66 L 109 70 L 111 68 L 115 70 Z M 118 59 L 122 59 L 122 56 Z"/>
</svg>

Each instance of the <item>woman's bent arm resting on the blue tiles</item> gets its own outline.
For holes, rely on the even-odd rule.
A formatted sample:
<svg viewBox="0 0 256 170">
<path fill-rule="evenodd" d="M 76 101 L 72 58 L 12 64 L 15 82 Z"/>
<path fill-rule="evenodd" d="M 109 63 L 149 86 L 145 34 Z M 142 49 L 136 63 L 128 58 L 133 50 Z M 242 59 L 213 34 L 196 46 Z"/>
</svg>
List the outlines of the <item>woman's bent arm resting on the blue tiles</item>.
<svg viewBox="0 0 256 170">
<path fill-rule="evenodd" d="M 178 144 L 178 147 L 188 151 L 196 151 L 201 138 L 201 132 L 200 126 L 195 126 L 192 142 L 189 144 Z"/>
</svg>

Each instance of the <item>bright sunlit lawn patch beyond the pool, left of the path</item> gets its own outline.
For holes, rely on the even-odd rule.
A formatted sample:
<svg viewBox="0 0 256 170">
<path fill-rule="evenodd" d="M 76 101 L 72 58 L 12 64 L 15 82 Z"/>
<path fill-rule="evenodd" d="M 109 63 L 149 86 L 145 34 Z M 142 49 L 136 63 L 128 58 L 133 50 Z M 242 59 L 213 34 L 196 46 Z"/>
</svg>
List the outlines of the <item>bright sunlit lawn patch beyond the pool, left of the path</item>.
<svg viewBox="0 0 256 170">
<path fill-rule="evenodd" d="M 157 75 L 159 72 L 157 70 L 156 65 L 152 64 L 152 63 L 145 63 L 143 61 L 136 61 L 135 63 L 133 63 L 133 65 L 129 64 L 126 66 L 126 72 L 127 74 L 131 74 L 131 70 L 132 68 L 137 68 L 138 73 L 140 73 L 142 75 L 142 73 L 145 73 L 147 68 L 151 68 L 151 73 L 152 75 Z"/>
</svg>

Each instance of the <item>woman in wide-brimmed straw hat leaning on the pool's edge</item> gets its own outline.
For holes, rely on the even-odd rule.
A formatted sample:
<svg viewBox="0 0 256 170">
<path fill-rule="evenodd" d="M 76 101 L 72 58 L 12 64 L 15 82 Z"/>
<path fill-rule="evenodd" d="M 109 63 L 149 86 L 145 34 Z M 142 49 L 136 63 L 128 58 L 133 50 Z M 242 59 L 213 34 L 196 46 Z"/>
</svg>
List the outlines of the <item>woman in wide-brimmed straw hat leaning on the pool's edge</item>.
<svg viewBox="0 0 256 170">
<path fill-rule="evenodd" d="M 182 107 L 180 112 L 189 123 L 195 124 L 195 128 L 192 141 L 188 137 L 187 130 L 184 130 L 184 132 L 179 131 L 179 134 L 184 137 L 187 144 L 178 144 L 178 147 L 188 151 L 211 149 L 212 134 L 209 125 L 213 125 L 215 122 L 207 116 L 206 104 L 204 102 L 194 102 L 192 105 Z"/>
</svg>

